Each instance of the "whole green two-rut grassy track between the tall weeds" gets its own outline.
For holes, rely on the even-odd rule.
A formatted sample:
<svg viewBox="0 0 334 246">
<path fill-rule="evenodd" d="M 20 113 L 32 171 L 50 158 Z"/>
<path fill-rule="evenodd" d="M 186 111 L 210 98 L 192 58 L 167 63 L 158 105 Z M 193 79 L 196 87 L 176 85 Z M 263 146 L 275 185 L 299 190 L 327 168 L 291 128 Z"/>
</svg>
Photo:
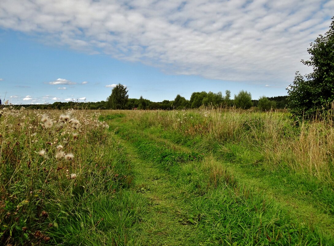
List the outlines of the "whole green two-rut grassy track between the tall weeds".
<svg viewBox="0 0 334 246">
<path fill-rule="evenodd" d="M 311 201 L 289 200 L 266 175 L 253 176 L 210 152 L 202 156 L 153 128 L 138 130 L 120 119 L 110 124 L 131 163 L 133 189 L 147 199 L 140 222 L 129 230 L 129 245 L 332 243 L 332 216 Z"/>
</svg>

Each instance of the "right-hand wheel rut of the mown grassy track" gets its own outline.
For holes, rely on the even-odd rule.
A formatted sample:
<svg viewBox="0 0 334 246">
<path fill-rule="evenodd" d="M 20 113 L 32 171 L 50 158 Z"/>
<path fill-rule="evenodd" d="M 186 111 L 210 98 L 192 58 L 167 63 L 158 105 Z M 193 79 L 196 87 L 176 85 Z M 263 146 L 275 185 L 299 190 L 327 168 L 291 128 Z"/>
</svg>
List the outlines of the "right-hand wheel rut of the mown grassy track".
<svg viewBox="0 0 334 246">
<path fill-rule="evenodd" d="M 145 132 L 150 139 L 164 142 L 178 149 L 191 152 L 187 147 L 170 142 L 166 138 L 159 138 L 150 131 Z M 317 226 L 324 235 L 334 238 L 334 214 L 333 209 L 326 212 L 325 208 L 333 207 L 333 195 L 327 187 L 321 187 L 310 183 L 303 183 L 298 180 L 298 176 L 289 176 L 287 173 L 264 173 L 249 168 L 249 164 L 230 163 L 219 160 L 219 155 L 215 154 L 214 162 L 222 168 L 228 170 L 238 180 L 253 187 L 258 192 L 265 192 L 267 198 L 274 199 L 282 206 L 289 207 L 304 223 L 309 223 L 311 227 Z M 308 189 L 314 189 L 310 191 Z M 323 196 L 323 197 L 322 197 Z"/>
</svg>

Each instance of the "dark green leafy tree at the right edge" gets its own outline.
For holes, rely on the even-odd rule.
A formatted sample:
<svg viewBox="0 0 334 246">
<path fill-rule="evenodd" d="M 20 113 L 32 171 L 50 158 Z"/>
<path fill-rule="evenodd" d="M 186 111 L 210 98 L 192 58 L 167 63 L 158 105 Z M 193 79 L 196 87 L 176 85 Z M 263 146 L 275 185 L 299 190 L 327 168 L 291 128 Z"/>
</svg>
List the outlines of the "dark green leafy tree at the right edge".
<svg viewBox="0 0 334 246">
<path fill-rule="evenodd" d="M 319 35 L 307 51 L 311 59 L 302 63 L 312 67 L 313 72 L 305 76 L 296 73 L 288 88 L 288 107 L 294 115 L 311 119 L 319 110 L 332 108 L 334 101 L 334 20 L 329 31 Z"/>
</svg>

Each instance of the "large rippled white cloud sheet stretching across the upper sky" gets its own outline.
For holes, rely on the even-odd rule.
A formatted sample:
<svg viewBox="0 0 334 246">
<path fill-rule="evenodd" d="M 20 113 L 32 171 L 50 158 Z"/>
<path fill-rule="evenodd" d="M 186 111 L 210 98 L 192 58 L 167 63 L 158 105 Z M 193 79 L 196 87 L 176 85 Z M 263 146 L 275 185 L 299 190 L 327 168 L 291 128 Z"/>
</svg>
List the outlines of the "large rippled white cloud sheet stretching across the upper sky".
<svg viewBox="0 0 334 246">
<path fill-rule="evenodd" d="M 309 72 L 300 60 L 332 13 L 325 0 L 2 0 L 0 27 L 168 74 L 283 86 Z"/>
</svg>

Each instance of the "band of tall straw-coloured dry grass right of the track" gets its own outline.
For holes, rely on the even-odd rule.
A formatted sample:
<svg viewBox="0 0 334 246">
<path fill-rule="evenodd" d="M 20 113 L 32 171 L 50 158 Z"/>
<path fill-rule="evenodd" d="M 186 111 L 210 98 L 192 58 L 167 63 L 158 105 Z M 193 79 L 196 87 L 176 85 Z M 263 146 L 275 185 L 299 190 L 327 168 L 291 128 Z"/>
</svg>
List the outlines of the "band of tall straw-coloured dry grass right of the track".
<svg viewBox="0 0 334 246">
<path fill-rule="evenodd" d="M 330 121 L 296 122 L 286 112 L 236 109 L 129 111 L 138 127 L 161 126 L 185 137 L 239 144 L 260 153 L 265 168 L 289 168 L 334 183 L 334 127 Z M 198 146 L 201 147 L 201 146 Z M 222 147 L 221 151 L 228 151 Z"/>
</svg>

